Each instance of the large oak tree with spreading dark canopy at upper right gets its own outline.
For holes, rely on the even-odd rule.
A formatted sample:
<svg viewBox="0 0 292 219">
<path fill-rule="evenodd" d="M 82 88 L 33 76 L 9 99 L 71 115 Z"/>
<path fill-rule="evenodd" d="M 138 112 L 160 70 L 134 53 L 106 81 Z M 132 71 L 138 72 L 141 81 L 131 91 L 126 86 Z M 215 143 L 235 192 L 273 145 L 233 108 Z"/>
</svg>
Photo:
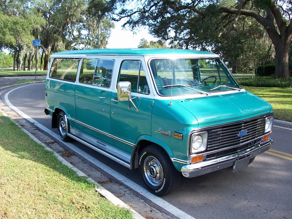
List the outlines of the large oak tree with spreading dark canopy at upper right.
<svg viewBox="0 0 292 219">
<path fill-rule="evenodd" d="M 275 56 L 276 76 L 288 78 L 288 48 L 292 37 L 289 0 L 116 0 L 116 20 L 127 18 L 132 29 L 149 27 L 150 33 L 172 46 L 218 50 L 239 60 Z M 255 46 L 261 45 L 259 54 Z M 231 51 L 231 52 L 230 52 Z M 237 51 L 237 53 L 236 53 Z M 243 54 L 246 55 L 243 55 Z M 242 57 L 240 57 L 240 55 Z M 237 57 L 237 55 L 239 55 Z M 256 60 L 253 66 L 258 65 Z M 250 68 L 245 63 L 244 68 Z"/>
</svg>

